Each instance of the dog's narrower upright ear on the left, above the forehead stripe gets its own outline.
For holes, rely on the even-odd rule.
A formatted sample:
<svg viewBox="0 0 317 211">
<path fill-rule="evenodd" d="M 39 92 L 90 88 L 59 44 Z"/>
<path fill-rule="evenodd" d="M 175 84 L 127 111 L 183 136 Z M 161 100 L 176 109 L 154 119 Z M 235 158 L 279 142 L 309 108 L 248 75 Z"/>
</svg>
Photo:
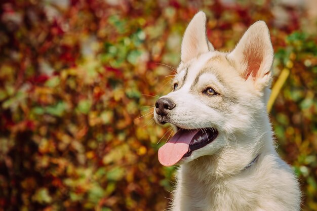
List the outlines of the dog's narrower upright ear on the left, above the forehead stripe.
<svg viewBox="0 0 317 211">
<path fill-rule="evenodd" d="M 207 38 L 206 21 L 206 15 L 201 11 L 188 24 L 182 41 L 182 62 L 187 62 L 199 54 L 214 50 Z"/>
</svg>

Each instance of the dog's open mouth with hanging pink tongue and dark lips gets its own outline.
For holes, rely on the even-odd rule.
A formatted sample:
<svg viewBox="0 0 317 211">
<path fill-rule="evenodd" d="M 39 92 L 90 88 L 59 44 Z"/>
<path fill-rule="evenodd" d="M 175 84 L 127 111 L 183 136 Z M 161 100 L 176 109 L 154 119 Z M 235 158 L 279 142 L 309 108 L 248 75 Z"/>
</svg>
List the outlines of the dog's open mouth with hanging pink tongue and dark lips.
<svg viewBox="0 0 317 211">
<path fill-rule="evenodd" d="M 197 149 L 205 147 L 218 136 L 213 128 L 186 130 L 179 129 L 165 145 L 159 149 L 159 161 L 162 165 L 171 166 L 183 157 L 188 157 Z"/>
</svg>

